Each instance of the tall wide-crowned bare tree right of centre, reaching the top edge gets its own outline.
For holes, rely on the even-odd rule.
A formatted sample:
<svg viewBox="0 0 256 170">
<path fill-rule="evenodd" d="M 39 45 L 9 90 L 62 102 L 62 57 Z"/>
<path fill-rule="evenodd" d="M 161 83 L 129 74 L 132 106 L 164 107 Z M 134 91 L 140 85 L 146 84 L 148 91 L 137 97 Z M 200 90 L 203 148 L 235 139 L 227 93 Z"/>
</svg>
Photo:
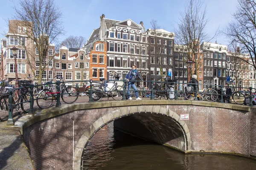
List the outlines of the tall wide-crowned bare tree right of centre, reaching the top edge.
<svg viewBox="0 0 256 170">
<path fill-rule="evenodd" d="M 190 74 L 198 74 L 202 66 L 203 55 L 200 51 L 200 42 L 207 38 L 205 26 L 208 19 L 206 8 L 202 8 L 202 5 L 201 0 L 187 0 L 185 11 L 180 14 L 179 23 L 175 29 L 176 44 L 187 49 L 186 54 L 183 55 L 184 64 L 189 60 L 194 62 L 192 67 L 194 70 Z M 189 68 L 187 64 L 186 66 Z"/>
</svg>

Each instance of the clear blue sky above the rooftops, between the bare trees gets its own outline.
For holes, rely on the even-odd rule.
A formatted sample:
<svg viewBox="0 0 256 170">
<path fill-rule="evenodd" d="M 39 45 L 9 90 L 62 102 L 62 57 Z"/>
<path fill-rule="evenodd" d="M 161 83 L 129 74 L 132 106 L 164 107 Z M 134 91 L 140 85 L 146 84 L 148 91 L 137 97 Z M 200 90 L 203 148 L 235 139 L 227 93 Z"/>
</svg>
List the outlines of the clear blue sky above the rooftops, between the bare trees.
<svg viewBox="0 0 256 170">
<path fill-rule="evenodd" d="M 12 19 L 14 12 L 12 1 L 18 0 L 1 1 L 0 37 L 5 38 L 3 32 L 8 31 L 6 20 Z M 157 20 L 160 28 L 174 32 L 180 13 L 184 11 L 185 2 L 186 0 L 55 0 L 62 11 L 62 22 L 66 31 L 65 36 L 60 37 L 60 40 L 70 35 L 83 36 L 87 40 L 93 29 L 100 26 L 99 17 L 102 14 L 113 20 L 130 18 L 138 24 L 143 21 L 145 29 L 151 27 L 150 21 L 154 19 Z M 204 6 L 207 6 L 209 19 L 206 32 L 209 37 L 215 34 L 218 27 L 220 30 L 225 28 L 232 19 L 236 5 L 237 0 L 205 0 Z M 219 44 L 228 45 L 224 36 L 214 38 L 211 42 L 215 40 Z"/>
</svg>

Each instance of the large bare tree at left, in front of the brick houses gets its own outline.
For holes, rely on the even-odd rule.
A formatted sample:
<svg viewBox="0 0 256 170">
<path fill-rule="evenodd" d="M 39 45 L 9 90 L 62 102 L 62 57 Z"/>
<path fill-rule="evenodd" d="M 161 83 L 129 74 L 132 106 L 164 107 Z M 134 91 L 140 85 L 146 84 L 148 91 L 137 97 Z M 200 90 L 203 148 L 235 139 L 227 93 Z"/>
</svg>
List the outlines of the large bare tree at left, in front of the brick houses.
<svg viewBox="0 0 256 170">
<path fill-rule="evenodd" d="M 54 0 L 20 0 L 19 5 L 15 5 L 14 9 L 14 19 L 21 22 L 17 22 L 17 25 L 22 24 L 26 27 L 23 33 L 30 42 L 34 42 L 33 47 L 28 47 L 26 43 L 20 44 L 26 50 L 27 62 L 31 68 L 35 68 L 35 61 L 38 58 L 39 74 L 35 74 L 35 69 L 32 71 L 38 83 L 41 84 L 42 73 L 47 69 L 48 63 L 52 61 L 55 54 L 54 45 L 51 43 L 64 33 L 61 25 L 61 10 L 55 5 Z M 9 31 L 12 32 L 12 30 Z M 53 50 L 52 55 L 48 53 L 50 48 Z M 38 54 L 36 56 L 35 51 Z"/>
</svg>

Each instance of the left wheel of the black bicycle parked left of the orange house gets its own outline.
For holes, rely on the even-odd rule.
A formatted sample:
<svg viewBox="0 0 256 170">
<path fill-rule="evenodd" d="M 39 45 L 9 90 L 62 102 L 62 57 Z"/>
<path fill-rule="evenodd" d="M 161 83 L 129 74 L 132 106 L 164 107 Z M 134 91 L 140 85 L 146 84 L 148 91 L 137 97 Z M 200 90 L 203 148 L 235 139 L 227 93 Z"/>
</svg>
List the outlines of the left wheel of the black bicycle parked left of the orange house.
<svg viewBox="0 0 256 170">
<path fill-rule="evenodd" d="M 36 98 L 36 103 L 41 109 L 47 109 L 52 105 L 54 96 L 52 94 L 47 94 L 47 92 L 51 91 L 45 89 L 41 91 Z"/>
</svg>

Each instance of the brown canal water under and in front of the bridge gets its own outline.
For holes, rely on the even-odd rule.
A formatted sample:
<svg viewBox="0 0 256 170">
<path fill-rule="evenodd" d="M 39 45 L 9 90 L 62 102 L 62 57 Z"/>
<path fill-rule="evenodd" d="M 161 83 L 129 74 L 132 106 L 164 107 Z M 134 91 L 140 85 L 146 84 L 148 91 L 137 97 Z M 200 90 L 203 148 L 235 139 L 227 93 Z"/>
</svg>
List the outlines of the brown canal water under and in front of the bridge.
<svg viewBox="0 0 256 170">
<path fill-rule="evenodd" d="M 113 129 L 99 130 L 86 147 L 83 170 L 256 170 L 256 161 L 221 154 L 187 154 Z"/>
</svg>

